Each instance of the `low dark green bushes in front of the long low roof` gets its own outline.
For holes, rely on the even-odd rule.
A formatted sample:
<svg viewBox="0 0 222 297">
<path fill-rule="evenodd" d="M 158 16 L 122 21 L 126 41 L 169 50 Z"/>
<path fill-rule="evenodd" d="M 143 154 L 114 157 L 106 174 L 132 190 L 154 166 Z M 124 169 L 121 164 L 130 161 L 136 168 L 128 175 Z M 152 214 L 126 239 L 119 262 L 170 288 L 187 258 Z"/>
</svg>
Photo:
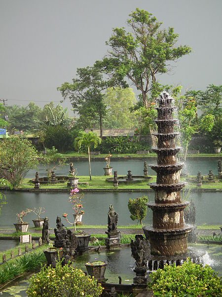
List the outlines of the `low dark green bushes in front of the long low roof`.
<svg viewBox="0 0 222 297">
<path fill-rule="evenodd" d="M 146 144 L 139 143 L 138 138 L 127 137 L 106 137 L 102 141 L 101 150 L 103 153 L 136 153 L 137 150 L 146 150 Z"/>
</svg>

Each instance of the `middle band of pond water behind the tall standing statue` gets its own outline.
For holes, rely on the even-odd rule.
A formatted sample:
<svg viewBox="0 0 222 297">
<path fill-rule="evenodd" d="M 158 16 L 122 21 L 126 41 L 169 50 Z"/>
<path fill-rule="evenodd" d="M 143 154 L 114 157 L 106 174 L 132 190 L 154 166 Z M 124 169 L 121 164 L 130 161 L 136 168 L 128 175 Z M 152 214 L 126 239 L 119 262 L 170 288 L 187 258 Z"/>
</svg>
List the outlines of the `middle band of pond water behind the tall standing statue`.
<svg viewBox="0 0 222 297">
<path fill-rule="evenodd" d="M 186 192 L 185 192 L 186 193 Z M 69 202 L 68 193 L 28 193 L 28 192 L 5 192 L 7 204 L 2 206 L 0 215 L 0 229 L 14 228 L 16 222 L 16 213 L 26 208 L 44 207 L 43 217 L 49 218 L 50 228 L 55 227 L 57 215 L 62 217 L 64 212 L 68 213 L 70 221 L 73 221 L 71 203 Z M 154 191 L 150 192 L 94 192 L 85 193 L 82 199 L 85 214 L 83 223 L 86 225 L 106 225 L 109 205 L 112 204 L 115 211 L 119 214 L 118 225 L 136 224 L 136 221 L 130 219 L 128 210 L 129 198 L 137 198 L 148 195 L 149 201 L 154 200 Z M 183 196 L 183 194 L 182 194 Z M 222 224 L 221 209 L 222 196 L 221 192 L 211 193 L 190 193 L 189 199 L 194 201 L 196 206 L 196 224 Z M 189 200 L 188 199 L 188 200 Z M 25 221 L 33 226 L 33 214 L 28 214 Z M 144 224 L 151 224 L 152 211 L 148 208 L 147 217 Z M 63 223 L 69 224 L 63 220 Z"/>
</svg>

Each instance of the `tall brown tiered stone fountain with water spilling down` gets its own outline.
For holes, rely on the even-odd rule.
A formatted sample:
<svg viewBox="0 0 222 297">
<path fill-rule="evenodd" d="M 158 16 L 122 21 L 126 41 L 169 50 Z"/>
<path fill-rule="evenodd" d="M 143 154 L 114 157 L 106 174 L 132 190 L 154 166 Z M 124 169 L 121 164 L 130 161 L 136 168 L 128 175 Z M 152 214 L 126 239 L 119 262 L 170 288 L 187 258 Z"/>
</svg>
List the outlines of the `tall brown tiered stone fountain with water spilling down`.
<svg viewBox="0 0 222 297">
<path fill-rule="evenodd" d="M 188 202 L 182 202 L 181 189 L 185 183 L 180 182 L 182 163 L 177 162 L 176 154 L 180 148 L 176 147 L 174 132 L 177 119 L 173 118 L 173 98 L 163 92 L 158 99 L 158 117 L 155 121 L 158 133 L 157 165 L 151 165 L 156 171 L 156 183 L 150 184 L 155 191 L 155 202 L 148 203 L 153 212 L 153 226 L 144 227 L 144 234 L 150 243 L 149 270 L 163 267 L 165 263 L 175 262 L 177 265 L 192 255 L 187 253 L 187 235 L 192 230 L 191 225 L 186 225 L 184 209 Z M 195 262 L 198 259 L 195 256 Z"/>
</svg>

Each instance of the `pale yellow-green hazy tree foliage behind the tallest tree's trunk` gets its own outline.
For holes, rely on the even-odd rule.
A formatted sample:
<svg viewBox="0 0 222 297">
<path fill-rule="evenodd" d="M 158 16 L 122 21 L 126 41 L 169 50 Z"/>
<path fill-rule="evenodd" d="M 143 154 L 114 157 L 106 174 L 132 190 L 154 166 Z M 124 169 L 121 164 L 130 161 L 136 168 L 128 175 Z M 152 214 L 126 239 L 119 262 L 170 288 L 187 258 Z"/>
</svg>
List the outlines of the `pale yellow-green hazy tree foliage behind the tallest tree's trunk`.
<svg viewBox="0 0 222 297">
<path fill-rule="evenodd" d="M 131 108 L 136 103 L 136 97 L 132 88 L 109 88 L 105 95 L 107 115 L 104 127 L 108 129 L 130 129 L 137 126 L 137 120 Z"/>
</svg>

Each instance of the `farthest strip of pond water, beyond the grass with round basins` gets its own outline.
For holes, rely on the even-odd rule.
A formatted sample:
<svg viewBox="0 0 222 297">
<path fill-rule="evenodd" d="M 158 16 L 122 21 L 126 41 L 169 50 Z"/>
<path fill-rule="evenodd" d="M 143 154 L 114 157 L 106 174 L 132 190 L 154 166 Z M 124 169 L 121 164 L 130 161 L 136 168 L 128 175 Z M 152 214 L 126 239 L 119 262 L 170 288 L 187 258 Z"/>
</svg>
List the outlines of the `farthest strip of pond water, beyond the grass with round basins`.
<svg viewBox="0 0 222 297">
<path fill-rule="evenodd" d="M 72 159 L 69 159 L 69 161 L 73 162 Z M 144 157 L 140 159 L 111 159 L 111 166 L 113 167 L 112 172 L 116 170 L 118 172 L 118 175 L 126 175 L 127 171 L 131 170 L 133 175 L 143 175 L 145 161 L 147 161 L 148 164 L 153 164 L 156 163 L 156 158 Z M 201 171 L 202 175 L 207 175 L 209 173 L 209 170 L 212 170 L 214 174 L 217 174 L 217 164 L 218 158 L 187 158 L 182 173 L 197 175 L 198 171 Z M 105 160 L 92 159 L 92 175 L 104 175 L 103 167 L 105 166 Z M 78 176 L 87 176 L 89 174 L 88 160 L 74 160 L 74 168 L 77 169 Z M 70 166 L 69 164 L 67 164 L 62 168 L 56 170 L 56 174 L 68 175 L 69 170 Z M 45 167 L 40 164 L 37 169 L 30 170 L 27 173 L 26 177 L 35 178 L 36 171 L 39 172 L 39 177 L 46 176 Z M 148 174 L 156 175 L 155 171 L 153 171 L 150 167 L 148 168 Z"/>
</svg>

